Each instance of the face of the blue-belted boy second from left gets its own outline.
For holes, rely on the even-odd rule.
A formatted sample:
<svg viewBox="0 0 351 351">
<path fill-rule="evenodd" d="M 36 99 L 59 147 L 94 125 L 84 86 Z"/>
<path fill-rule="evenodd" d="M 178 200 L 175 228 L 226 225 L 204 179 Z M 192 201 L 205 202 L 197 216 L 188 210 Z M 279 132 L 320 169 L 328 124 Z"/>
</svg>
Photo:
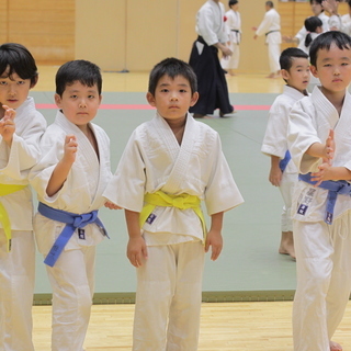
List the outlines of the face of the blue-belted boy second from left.
<svg viewBox="0 0 351 351">
<path fill-rule="evenodd" d="M 58 109 L 63 110 L 69 122 L 80 128 L 95 117 L 101 99 L 97 84 L 87 87 L 79 81 L 66 86 L 63 97 L 55 94 Z"/>
</svg>

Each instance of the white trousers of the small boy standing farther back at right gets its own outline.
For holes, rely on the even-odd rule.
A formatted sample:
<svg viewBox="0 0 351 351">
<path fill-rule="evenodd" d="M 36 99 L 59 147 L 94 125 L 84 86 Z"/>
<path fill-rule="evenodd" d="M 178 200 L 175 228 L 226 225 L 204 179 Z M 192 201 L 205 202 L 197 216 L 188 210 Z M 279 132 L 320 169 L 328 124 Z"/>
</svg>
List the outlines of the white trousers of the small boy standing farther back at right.
<svg viewBox="0 0 351 351">
<path fill-rule="evenodd" d="M 292 200 L 296 180 L 297 173 L 284 172 L 281 184 L 279 186 L 284 201 L 283 212 L 281 216 L 282 231 L 293 231 Z"/>
</svg>

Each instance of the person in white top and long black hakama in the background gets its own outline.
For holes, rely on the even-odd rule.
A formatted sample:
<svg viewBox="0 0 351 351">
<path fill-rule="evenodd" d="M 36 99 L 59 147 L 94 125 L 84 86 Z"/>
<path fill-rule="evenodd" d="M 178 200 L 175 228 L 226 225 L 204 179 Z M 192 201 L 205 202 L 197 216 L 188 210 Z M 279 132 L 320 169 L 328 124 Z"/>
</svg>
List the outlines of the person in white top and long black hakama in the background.
<svg viewBox="0 0 351 351">
<path fill-rule="evenodd" d="M 197 103 L 190 109 L 194 118 L 205 117 L 219 109 L 219 116 L 234 111 L 229 102 L 228 87 L 218 58 L 218 49 L 224 57 L 231 50 L 225 45 L 228 35 L 224 29 L 224 5 L 219 0 L 208 0 L 196 14 L 196 33 L 189 64 L 197 78 Z"/>
</svg>

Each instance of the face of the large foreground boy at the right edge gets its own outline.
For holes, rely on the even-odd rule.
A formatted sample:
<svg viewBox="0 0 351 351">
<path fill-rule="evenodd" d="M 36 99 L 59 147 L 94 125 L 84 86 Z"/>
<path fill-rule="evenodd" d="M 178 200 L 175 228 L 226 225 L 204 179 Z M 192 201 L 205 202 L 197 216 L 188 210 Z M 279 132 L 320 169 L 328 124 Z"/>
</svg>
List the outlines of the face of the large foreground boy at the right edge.
<svg viewBox="0 0 351 351">
<path fill-rule="evenodd" d="M 343 92 L 351 81 L 351 48 L 340 49 L 332 44 L 329 50 L 319 49 L 316 66 L 310 66 L 310 71 L 325 90 Z"/>
</svg>

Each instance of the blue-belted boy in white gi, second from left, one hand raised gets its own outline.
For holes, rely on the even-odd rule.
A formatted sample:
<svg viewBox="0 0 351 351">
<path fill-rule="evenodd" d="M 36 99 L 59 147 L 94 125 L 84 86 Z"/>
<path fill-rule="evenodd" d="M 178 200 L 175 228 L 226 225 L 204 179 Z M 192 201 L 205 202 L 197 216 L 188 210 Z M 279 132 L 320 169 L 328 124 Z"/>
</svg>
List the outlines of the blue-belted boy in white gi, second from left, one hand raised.
<svg viewBox="0 0 351 351">
<path fill-rule="evenodd" d="M 56 75 L 55 122 L 41 140 L 42 160 L 30 178 L 39 205 L 38 250 L 53 288 L 53 351 L 81 351 L 94 288 L 95 246 L 105 237 L 98 217 L 112 177 L 110 139 L 91 123 L 101 102 L 97 65 L 73 60 Z"/>
</svg>

